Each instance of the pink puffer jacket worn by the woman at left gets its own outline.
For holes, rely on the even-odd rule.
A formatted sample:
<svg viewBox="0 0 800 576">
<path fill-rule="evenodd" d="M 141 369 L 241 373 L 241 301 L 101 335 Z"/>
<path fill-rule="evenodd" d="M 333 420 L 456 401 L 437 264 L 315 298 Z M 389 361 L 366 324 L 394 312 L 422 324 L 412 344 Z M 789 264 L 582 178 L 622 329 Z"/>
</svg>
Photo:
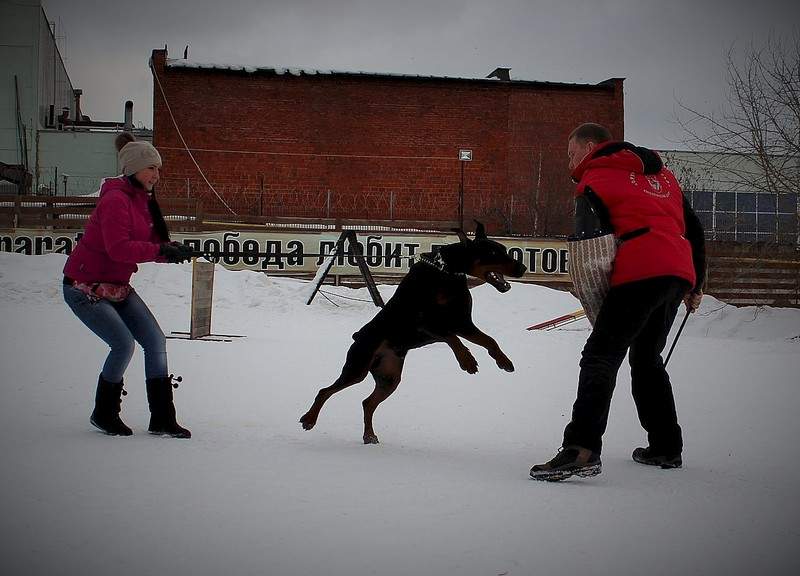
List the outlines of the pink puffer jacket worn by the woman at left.
<svg viewBox="0 0 800 576">
<path fill-rule="evenodd" d="M 146 190 L 124 176 L 107 178 L 64 275 L 79 282 L 127 284 L 137 263 L 164 262 L 147 198 Z"/>
</svg>

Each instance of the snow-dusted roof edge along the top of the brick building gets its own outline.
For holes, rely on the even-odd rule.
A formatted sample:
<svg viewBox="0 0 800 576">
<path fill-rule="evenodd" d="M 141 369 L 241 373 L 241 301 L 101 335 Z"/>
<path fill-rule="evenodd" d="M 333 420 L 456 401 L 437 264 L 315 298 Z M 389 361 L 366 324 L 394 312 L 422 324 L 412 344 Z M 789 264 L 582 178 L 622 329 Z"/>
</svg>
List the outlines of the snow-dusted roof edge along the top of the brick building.
<svg viewBox="0 0 800 576">
<path fill-rule="evenodd" d="M 371 78 L 401 78 L 410 80 L 446 80 L 446 81 L 459 81 L 459 82 L 486 82 L 486 83 L 505 83 L 504 80 L 497 78 L 476 78 L 467 76 L 431 76 L 422 74 L 398 74 L 392 72 L 365 72 L 365 71 L 347 71 L 347 70 L 317 70 L 312 68 L 294 68 L 285 66 L 247 66 L 240 64 L 219 64 L 210 62 L 196 62 L 193 60 L 185 60 L 179 58 L 167 58 L 167 68 L 188 68 L 198 70 L 218 70 L 220 72 L 240 72 L 245 74 L 267 74 L 267 75 L 291 75 L 291 76 L 365 76 Z M 615 80 L 611 78 L 597 84 L 578 84 L 569 82 L 546 82 L 541 80 L 523 80 L 520 78 L 511 78 L 512 84 L 535 84 L 540 86 L 551 87 L 596 87 L 609 85 Z"/>
</svg>

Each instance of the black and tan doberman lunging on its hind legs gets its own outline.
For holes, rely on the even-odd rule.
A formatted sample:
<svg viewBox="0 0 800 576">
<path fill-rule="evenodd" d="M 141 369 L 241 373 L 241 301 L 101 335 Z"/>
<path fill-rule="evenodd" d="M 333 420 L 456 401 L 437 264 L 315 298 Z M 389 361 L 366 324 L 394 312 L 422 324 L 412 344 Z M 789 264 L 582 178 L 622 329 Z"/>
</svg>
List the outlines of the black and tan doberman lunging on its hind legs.
<svg viewBox="0 0 800 576">
<path fill-rule="evenodd" d="M 300 418 L 303 428 L 314 427 L 328 398 L 371 373 L 375 390 L 362 402 L 364 443 L 377 444 L 372 428 L 375 409 L 397 389 L 406 353 L 433 342 L 450 346 L 461 369 L 470 374 L 478 371 L 478 362 L 461 338 L 486 348 L 503 370 L 514 371 L 514 364 L 497 342 L 472 322 L 467 276 L 484 280 L 499 292 L 508 292 L 511 285 L 505 276 L 519 278 L 526 268 L 508 255 L 505 246 L 487 238 L 481 223 L 477 223 L 474 240 L 463 231 L 458 231 L 458 236 L 459 242 L 422 254 L 386 306 L 353 334 L 354 343 L 341 375 L 319 391 L 314 404 Z"/>
</svg>

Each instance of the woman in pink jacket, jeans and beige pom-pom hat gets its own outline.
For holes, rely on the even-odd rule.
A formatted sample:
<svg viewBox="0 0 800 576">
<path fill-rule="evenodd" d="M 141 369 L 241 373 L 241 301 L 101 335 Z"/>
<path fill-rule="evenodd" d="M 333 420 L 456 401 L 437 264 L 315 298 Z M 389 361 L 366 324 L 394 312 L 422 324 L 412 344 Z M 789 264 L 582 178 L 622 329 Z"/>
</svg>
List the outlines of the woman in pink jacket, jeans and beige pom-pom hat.
<svg viewBox="0 0 800 576">
<path fill-rule="evenodd" d="M 175 419 L 164 333 L 129 282 L 138 263 L 180 263 L 191 258 L 191 250 L 170 242 L 156 202 L 158 151 L 127 132 L 117 137 L 116 146 L 123 175 L 103 181 L 84 235 L 64 266 L 64 301 L 111 348 L 90 421 L 106 434 L 133 433 L 119 413 L 126 394 L 123 375 L 138 342 L 144 350 L 149 431 L 189 438 L 191 433 Z"/>
</svg>

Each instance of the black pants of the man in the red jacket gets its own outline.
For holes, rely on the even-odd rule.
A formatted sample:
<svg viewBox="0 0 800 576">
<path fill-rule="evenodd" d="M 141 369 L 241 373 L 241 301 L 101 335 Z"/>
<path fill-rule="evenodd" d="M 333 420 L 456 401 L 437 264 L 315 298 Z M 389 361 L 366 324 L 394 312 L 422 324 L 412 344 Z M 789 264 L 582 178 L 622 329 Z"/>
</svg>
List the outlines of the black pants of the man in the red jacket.
<svg viewBox="0 0 800 576">
<path fill-rule="evenodd" d="M 617 372 L 630 349 L 633 400 L 650 447 L 659 454 L 681 453 L 681 428 L 661 352 L 689 289 L 686 280 L 660 276 L 609 290 L 583 348 L 578 397 L 564 430 L 564 446 L 602 451 Z"/>
</svg>

